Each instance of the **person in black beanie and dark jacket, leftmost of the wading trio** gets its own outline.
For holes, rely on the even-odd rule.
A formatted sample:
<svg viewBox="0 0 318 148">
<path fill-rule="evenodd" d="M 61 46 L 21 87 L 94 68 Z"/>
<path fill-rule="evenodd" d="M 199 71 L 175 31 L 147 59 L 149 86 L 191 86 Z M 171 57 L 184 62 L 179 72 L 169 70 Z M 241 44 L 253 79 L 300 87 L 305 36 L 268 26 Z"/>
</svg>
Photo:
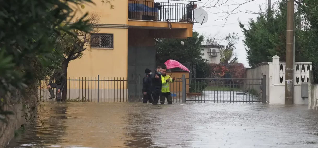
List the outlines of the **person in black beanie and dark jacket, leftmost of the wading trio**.
<svg viewBox="0 0 318 148">
<path fill-rule="evenodd" d="M 151 79 L 150 79 L 150 75 L 151 75 L 151 70 L 146 68 L 145 70 L 145 74 L 146 76 L 142 79 L 142 103 L 147 103 L 147 101 L 149 101 L 149 103 L 152 103 L 152 97 L 150 97 L 151 92 L 150 92 L 150 87 L 151 87 Z"/>
</svg>

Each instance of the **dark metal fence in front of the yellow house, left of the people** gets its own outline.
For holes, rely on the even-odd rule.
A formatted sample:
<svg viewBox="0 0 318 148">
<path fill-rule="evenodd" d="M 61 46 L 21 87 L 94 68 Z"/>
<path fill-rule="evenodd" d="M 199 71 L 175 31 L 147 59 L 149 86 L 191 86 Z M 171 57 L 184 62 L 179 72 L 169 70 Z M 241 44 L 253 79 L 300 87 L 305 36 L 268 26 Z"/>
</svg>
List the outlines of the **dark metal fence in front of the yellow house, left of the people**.
<svg viewBox="0 0 318 148">
<path fill-rule="evenodd" d="M 41 80 L 38 95 L 48 101 L 47 89 L 49 80 Z M 69 77 L 65 86 L 66 101 L 82 102 L 128 102 L 139 101 L 142 85 L 138 78 L 124 77 Z M 128 90 L 129 88 L 129 90 Z M 57 89 L 53 88 L 55 96 Z M 128 100 L 129 98 L 129 100 Z M 54 100 L 56 100 L 55 98 Z"/>
</svg>

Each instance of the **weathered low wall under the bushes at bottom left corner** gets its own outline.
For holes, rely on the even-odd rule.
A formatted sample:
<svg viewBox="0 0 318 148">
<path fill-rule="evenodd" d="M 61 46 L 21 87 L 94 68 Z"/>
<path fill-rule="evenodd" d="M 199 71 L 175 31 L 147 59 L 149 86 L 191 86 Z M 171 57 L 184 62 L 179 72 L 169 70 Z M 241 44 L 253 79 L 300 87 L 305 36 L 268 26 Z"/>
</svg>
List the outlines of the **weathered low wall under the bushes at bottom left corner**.
<svg viewBox="0 0 318 148">
<path fill-rule="evenodd" d="M 0 96 L 6 97 L 4 102 L 1 103 L 1 109 L 13 113 L 5 116 L 7 122 L 0 121 L 1 148 L 8 145 L 10 140 L 14 138 L 16 130 L 21 129 L 22 126 L 27 128 L 30 121 L 33 122 L 35 120 L 37 113 L 36 105 L 38 104 L 38 96 L 34 93 L 36 88 L 36 85 L 29 85 L 28 88 L 24 90 L 24 93 L 16 90 L 14 93 L 8 93 L 6 95 L 0 94 Z M 32 110 L 31 108 L 35 109 Z M 23 133 L 17 134 L 17 136 L 21 136 L 19 134 Z"/>
</svg>

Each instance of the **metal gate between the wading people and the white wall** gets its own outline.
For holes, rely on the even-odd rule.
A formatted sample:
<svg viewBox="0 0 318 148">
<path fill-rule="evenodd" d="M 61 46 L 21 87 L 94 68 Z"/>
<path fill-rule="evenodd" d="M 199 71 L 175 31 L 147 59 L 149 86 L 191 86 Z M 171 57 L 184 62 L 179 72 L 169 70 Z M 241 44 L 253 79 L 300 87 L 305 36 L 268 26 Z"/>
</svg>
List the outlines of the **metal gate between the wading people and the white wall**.
<svg viewBox="0 0 318 148">
<path fill-rule="evenodd" d="M 171 93 L 173 96 L 178 96 L 179 93 L 179 99 L 181 96 L 182 102 L 266 103 L 266 75 L 262 79 L 185 78 L 183 76 L 176 82 L 180 81 L 183 85 L 182 91 L 173 90 L 175 87 L 172 87 Z"/>
</svg>

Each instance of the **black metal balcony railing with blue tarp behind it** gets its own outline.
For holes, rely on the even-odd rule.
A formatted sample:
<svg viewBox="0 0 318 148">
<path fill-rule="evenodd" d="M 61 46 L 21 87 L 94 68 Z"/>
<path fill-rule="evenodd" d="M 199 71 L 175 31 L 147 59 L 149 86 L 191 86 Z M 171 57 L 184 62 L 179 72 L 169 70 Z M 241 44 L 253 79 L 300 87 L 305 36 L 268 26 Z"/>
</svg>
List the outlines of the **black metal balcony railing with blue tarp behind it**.
<svg viewBox="0 0 318 148">
<path fill-rule="evenodd" d="M 167 3 L 149 1 L 128 1 L 128 19 L 193 23 L 193 9 L 190 3 Z"/>
</svg>

